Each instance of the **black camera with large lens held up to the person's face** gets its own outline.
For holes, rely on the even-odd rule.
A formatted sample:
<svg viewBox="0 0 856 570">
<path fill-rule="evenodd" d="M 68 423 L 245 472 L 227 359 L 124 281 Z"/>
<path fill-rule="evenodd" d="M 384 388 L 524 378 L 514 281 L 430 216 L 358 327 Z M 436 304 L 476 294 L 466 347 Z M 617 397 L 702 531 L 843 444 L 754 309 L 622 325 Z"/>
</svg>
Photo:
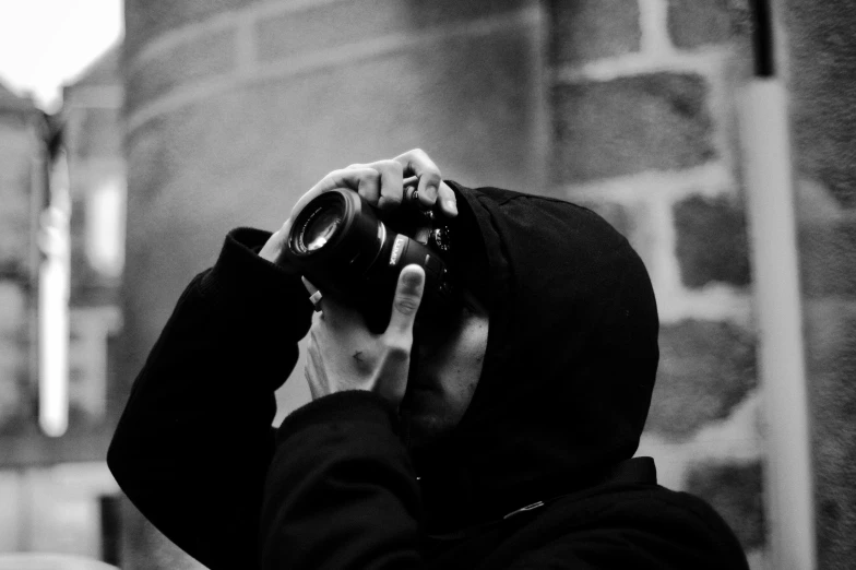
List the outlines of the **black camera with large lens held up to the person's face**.
<svg viewBox="0 0 856 570">
<path fill-rule="evenodd" d="M 407 235 L 430 221 L 428 242 Z M 448 259 L 451 229 L 435 216 L 403 205 L 385 219 L 359 193 L 335 189 L 295 214 L 284 256 L 324 294 L 356 307 L 372 332 L 389 324 L 401 270 L 425 270 L 416 323 L 443 319 L 460 305 Z"/>
</svg>

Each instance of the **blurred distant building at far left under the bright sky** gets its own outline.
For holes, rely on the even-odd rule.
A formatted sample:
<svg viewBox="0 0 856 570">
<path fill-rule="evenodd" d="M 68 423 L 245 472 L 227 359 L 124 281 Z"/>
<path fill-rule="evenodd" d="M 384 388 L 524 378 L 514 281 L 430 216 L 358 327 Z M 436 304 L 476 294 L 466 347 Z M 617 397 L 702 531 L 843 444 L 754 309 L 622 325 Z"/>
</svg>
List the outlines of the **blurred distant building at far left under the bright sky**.
<svg viewBox="0 0 856 570">
<path fill-rule="evenodd" d="M 68 87 L 52 116 L 0 93 L 0 551 L 117 557 L 102 520 L 116 511 L 118 490 L 104 464 L 124 253 L 118 52 Z M 59 245 L 68 241 L 73 268 L 64 290 L 67 418 L 62 436 L 50 437 L 56 426 L 39 399 L 39 296 L 63 296 L 44 271 L 57 246 L 51 231 L 63 229 Z"/>
</svg>

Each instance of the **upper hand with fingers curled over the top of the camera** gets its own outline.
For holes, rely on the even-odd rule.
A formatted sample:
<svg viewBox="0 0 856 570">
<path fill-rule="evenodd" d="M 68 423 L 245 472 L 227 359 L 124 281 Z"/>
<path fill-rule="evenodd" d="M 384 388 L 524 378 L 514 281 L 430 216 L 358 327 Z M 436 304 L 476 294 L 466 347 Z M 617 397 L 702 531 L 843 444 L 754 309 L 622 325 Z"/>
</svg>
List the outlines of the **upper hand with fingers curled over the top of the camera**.
<svg viewBox="0 0 856 570">
<path fill-rule="evenodd" d="M 277 261 L 285 247 L 294 216 L 319 194 L 337 188 L 349 188 L 359 192 L 371 205 L 390 212 L 402 204 L 404 178 L 414 175 L 419 177 L 416 190 L 423 207 L 435 211 L 439 209 L 447 217 L 457 215 L 454 192 L 442 181 L 440 169 L 425 152 L 415 149 L 389 161 L 353 164 L 326 175 L 297 201 L 288 218 L 271 236 L 259 256 L 271 262 Z"/>
</svg>

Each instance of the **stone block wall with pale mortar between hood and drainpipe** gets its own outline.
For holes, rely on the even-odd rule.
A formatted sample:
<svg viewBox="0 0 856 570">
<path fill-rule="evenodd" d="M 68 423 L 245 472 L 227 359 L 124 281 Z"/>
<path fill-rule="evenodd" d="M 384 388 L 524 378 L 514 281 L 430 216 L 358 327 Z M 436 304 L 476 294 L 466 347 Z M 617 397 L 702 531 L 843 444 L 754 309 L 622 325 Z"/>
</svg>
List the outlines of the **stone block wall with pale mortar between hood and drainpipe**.
<svg viewBox="0 0 856 570">
<path fill-rule="evenodd" d="M 621 230 L 661 313 L 640 454 L 694 492 L 764 565 L 763 441 L 737 149 L 751 72 L 747 7 L 708 0 L 549 3 L 550 192 Z"/>
</svg>

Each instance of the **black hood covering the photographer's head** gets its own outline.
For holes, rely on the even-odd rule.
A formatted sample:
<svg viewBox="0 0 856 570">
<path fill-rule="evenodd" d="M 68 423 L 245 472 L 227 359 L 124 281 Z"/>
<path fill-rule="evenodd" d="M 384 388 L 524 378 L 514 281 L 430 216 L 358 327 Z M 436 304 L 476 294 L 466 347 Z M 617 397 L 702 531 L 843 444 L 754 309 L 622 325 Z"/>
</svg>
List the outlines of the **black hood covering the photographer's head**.
<svg viewBox="0 0 856 570">
<path fill-rule="evenodd" d="M 490 324 L 461 424 L 412 453 L 437 530 L 572 492 L 633 456 L 659 355 L 647 272 L 602 217 L 561 200 L 447 182 L 461 212 L 455 236 L 467 237 L 468 256 L 487 259 L 487 275 L 464 271 L 464 280 L 483 289 Z"/>
</svg>

